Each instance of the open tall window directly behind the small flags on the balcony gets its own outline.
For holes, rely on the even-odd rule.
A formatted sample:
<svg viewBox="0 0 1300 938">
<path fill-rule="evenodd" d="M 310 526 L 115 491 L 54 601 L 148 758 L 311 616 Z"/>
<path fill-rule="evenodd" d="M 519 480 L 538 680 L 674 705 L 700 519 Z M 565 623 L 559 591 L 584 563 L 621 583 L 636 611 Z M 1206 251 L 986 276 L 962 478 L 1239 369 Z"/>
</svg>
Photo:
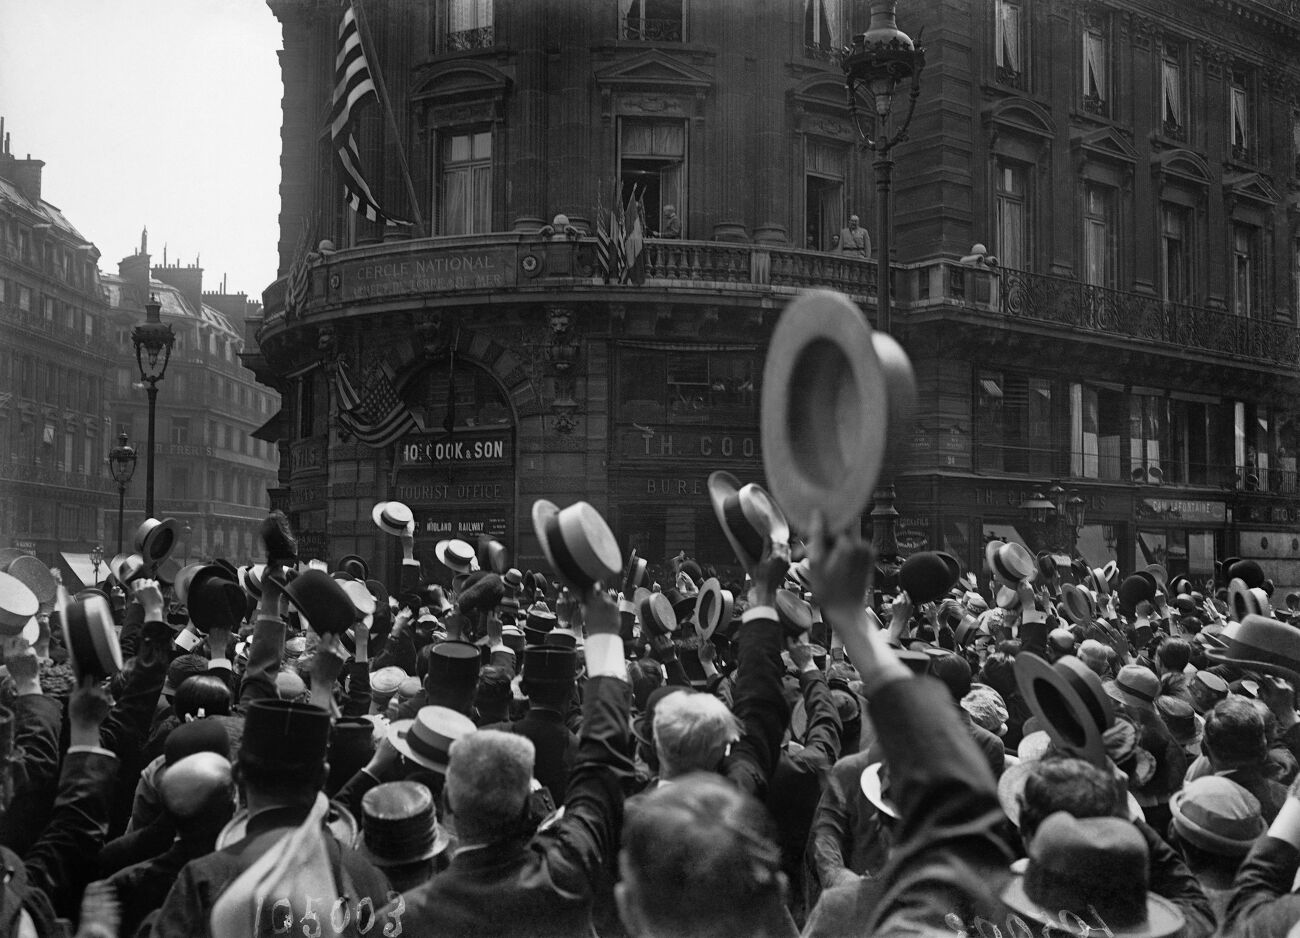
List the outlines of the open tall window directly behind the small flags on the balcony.
<svg viewBox="0 0 1300 938">
<path fill-rule="evenodd" d="M 673 205 L 686 233 L 686 125 L 682 121 L 623 118 L 619 131 L 620 199 L 641 199 L 646 223 L 663 230 L 663 209 Z"/>
</svg>

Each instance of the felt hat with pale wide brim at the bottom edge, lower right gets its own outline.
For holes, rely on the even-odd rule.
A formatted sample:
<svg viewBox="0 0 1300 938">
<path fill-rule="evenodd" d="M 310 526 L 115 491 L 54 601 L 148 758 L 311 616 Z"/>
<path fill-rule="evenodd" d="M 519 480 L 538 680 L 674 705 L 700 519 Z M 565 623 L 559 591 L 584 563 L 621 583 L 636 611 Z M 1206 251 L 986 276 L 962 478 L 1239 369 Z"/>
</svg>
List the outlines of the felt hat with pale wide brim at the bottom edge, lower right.
<svg viewBox="0 0 1300 938">
<path fill-rule="evenodd" d="M 1100 919 L 1115 938 L 1171 938 L 1186 920 L 1148 891 L 1149 851 L 1119 817 L 1050 815 L 1028 844 L 1030 864 L 1002 890 L 1002 902 L 1037 924 L 1060 926 L 1066 913 Z"/>
</svg>

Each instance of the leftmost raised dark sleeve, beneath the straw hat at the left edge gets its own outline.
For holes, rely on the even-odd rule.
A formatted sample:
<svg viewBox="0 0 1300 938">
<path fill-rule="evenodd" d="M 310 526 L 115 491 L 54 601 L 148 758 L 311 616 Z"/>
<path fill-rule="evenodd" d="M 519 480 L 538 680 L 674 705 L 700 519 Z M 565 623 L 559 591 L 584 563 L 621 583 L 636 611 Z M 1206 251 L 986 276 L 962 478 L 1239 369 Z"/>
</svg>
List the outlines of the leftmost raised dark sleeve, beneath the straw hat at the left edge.
<svg viewBox="0 0 1300 938">
<path fill-rule="evenodd" d="M 44 694 L 23 694 L 14 699 L 13 709 L 13 798 L 0 813 L 0 844 L 21 856 L 49 818 L 64 713 L 58 700 Z"/>
</svg>

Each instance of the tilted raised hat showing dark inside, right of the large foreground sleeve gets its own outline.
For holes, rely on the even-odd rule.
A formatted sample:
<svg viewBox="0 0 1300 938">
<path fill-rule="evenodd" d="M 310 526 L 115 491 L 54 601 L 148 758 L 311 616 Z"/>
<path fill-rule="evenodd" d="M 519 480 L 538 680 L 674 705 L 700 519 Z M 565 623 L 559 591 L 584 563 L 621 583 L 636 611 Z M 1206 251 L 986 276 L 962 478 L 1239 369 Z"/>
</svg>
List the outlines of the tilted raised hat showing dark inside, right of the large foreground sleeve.
<svg viewBox="0 0 1300 938">
<path fill-rule="evenodd" d="M 1114 722 L 1114 708 L 1101 678 L 1083 661 L 1066 655 L 1048 664 L 1022 652 L 1015 656 L 1015 683 L 1057 748 L 1097 767 L 1106 764 L 1102 734 Z"/>
</svg>

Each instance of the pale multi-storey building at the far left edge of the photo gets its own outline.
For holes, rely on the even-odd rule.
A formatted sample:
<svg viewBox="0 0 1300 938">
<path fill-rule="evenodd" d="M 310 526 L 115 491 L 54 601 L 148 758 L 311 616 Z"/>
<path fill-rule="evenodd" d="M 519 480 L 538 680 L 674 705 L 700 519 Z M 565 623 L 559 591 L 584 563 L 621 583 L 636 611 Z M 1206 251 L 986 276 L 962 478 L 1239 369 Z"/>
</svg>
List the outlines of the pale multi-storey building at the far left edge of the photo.
<svg viewBox="0 0 1300 938">
<path fill-rule="evenodd" d="M 66 568 L 61 555 L 104 542 L 117 505 L 104 463 L 116 352 L 99 249 L 42 197 L 46 164 L 13 156 L 3 121 L 0 138 L 0 546 Z"/>
</svg>

